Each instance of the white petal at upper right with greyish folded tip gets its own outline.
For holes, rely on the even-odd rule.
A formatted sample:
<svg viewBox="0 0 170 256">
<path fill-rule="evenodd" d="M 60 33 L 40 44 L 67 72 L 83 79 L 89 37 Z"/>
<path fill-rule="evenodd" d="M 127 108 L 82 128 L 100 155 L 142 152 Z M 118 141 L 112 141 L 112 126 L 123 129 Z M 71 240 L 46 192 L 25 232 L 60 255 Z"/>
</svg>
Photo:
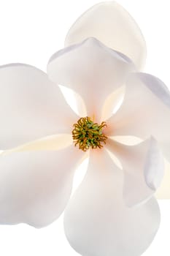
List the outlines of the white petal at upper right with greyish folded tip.
<svg viewBox="0 0 170 256">
<path fill-rule="evenodd" d="M 134 73 L 128 78 L 123 104 L 107 121 L 108 135 L 132 135 L 143 140 L 152 135 L 170 143 L 170 92 L 152 75 Z"/>
</svg>

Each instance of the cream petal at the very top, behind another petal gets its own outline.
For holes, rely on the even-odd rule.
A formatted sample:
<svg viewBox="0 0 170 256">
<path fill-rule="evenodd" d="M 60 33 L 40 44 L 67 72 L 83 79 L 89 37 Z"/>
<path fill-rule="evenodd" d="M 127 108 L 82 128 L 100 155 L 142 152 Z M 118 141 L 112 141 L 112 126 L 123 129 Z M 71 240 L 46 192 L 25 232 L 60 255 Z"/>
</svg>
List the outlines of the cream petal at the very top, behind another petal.
<svg viewBox="0 0 170 256">
<path fill-rule="evenodd" d="M 146 59 L 146 43 L 135 20 L 115 1 L 96 4 L 74 23 L 65 45 L 96 37 L 109 48 L 124 53 L 141 69 Z"/>
</svg>

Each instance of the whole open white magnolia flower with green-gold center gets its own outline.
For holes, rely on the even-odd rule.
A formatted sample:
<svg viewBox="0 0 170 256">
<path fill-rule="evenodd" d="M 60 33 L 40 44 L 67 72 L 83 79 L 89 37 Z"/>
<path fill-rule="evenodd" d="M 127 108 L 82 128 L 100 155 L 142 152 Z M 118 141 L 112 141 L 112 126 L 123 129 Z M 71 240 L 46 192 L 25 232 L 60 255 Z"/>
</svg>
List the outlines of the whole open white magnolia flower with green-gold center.
<svg viewBox="0 0 170 256">
<path fill-rule="evenodd" d="M 169 90 L 140 72 L 143 36 L 115 2 L 85 12 L 65 45 L 47 74 L 26 64 L 0 68 L 0 222 L 44 227 L 66 208 L 66 237 L 80 255 L 141 255 L 160 224 L 154 193 L 163 154 L 170 159 Z M 80 116 L 58 85 L 75 91 Z M 117 141 L 127 136 L 140 140 Z M 70 199 L 86 157 L 87 173 Z"/>
</svg>

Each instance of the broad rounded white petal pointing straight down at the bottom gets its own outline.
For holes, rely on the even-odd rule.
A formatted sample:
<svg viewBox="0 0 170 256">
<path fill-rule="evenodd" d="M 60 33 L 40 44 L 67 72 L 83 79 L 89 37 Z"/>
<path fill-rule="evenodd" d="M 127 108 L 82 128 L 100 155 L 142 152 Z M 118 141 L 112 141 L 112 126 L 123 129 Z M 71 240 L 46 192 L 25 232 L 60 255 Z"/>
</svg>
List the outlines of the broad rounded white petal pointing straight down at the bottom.
<svg viewBox="0 0 170 256">
<path fill-rule="evenodd" d="M 64 228 L 71 246 L 83 256 L 139 256 L 160 223 L 155 198 L 136 208 L 122 198 L 123 173 L 101 151 L 90 157 L 88 173 L 66 207 Z"/>
</svg>

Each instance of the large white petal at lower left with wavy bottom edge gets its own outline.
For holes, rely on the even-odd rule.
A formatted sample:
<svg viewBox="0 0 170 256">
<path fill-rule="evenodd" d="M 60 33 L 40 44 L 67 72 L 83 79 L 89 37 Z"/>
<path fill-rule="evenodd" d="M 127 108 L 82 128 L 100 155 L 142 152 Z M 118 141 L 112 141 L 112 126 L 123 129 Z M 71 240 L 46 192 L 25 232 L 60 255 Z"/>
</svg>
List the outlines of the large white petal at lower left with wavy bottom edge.
<svg viewBox="0 0 170 256">
<path fill-rule="evenodd" d="M 1 156 L 0 223 L 44 227 L 57 219 L 68 203 L 82 154 L 69 146 Z"/>
</svg>

